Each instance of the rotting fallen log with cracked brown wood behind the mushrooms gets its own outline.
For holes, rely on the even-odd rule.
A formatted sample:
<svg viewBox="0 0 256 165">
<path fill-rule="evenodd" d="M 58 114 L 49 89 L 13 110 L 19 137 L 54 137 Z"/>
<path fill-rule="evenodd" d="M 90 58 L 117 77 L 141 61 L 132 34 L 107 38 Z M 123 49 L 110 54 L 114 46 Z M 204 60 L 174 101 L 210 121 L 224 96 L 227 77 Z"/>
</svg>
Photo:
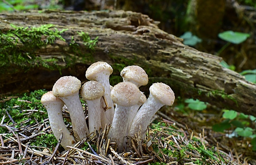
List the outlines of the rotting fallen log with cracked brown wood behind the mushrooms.
<svg viewBox="0 0 256 165">
<path fill-rule="evenodd" d="M 73 75 L 86 81 L 87 67 L 92 62 L 102 60 L 112 66 L 140 65 L 149 74 L 150 83 L 162 81 L 170 85 L 176 97 L 181 95 L 198 98 L 220 108 L 234 109 L 254 116 L 256 114 L 255 84 L 246 81 L 238 73 L 223 68 L 219 64 L 222 58 L 182 44 L 180 38 L 157 28 L 157 22 L 146 15 L 124 11 L 49 10 L 42 13 L 0 14 L 0 32 L 6 33 L 13 29 L 10 24 L 23 27 L 54 24 L 59 30 L 68 30 L 62 33 L 65 42 L 56 40 L 55 44 L 36 50 L 37 56 L 43 59 L 58 59 L 57 65 L 62 67 L 62 75 L 57 69 L 50 70 L 40 65 L 24 70 L 9 64 L 8 67 L 0 68 L 1 93 L 51 89 L 55 81 L 64 75 Z M 93 61 L 78 57 L 78 54 L 70 51 L 72 36 L 79 45 L 78 49 L 86 50 L 77 31 L 88 32 L 92 39 L 99 37 Z M 22 46 L 17 45 L 19 48 Z M 67 56 L 77 56 L 69 67 L 65 67 Z M 114 74 L 117 75 L 117 72 L 118 70 Z M 148 87 L 142 87 L 141 90 L 148 92 Z"/>
</svg>

